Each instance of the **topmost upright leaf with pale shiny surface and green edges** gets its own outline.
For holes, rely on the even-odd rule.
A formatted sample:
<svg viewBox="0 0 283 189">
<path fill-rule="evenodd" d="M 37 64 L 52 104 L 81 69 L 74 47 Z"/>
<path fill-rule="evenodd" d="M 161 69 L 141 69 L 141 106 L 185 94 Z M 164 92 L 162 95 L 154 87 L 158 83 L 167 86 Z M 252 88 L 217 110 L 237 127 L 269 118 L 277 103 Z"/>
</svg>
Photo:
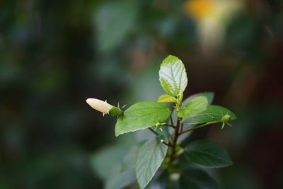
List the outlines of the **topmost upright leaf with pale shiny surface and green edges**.
<svg viewBox="0 0 283 189">
<path fill-rule="evenodd" d="M 159 81 L 164 91 L 178 97 L 187 87 L 187 74 L 183 62 L 172 55 L 166 57 L 159 70 Z"/>
</svg>

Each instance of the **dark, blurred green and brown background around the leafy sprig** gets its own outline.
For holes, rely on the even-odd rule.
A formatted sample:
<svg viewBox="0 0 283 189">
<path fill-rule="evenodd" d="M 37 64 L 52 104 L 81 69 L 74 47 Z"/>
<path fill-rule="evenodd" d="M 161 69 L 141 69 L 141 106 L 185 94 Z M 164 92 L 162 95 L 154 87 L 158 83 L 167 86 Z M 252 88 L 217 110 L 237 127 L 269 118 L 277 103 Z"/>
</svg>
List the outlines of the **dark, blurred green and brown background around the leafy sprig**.
<svg viewBox="0 0 283 189">
<path fill-rule="evenodd" d="M 219 187 L 283 188 L 280 0 L 1 1 L 0 188 L 103 188 L 91 159 L 115 145 L 115 118 L 85 100 L 156 100 L 170 54 L 185 96 L 214 91 L 238 115 L 199 132 L 235 162 Z"/>
</svg>

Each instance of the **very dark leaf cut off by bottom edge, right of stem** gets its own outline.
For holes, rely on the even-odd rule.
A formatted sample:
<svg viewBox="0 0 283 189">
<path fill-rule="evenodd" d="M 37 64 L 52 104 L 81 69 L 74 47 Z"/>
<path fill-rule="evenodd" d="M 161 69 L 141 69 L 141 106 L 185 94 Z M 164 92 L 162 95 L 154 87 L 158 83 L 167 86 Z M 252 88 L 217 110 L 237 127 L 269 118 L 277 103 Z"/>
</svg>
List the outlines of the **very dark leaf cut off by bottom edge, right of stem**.
<svg viewBox="0 0 283 189">
<path fill-rule="evenodd" d="M 217 189 L 217 184 L 208 173 L 197 168 L 187 168 L 180 177 L 179 189 Z"/>
</svg>

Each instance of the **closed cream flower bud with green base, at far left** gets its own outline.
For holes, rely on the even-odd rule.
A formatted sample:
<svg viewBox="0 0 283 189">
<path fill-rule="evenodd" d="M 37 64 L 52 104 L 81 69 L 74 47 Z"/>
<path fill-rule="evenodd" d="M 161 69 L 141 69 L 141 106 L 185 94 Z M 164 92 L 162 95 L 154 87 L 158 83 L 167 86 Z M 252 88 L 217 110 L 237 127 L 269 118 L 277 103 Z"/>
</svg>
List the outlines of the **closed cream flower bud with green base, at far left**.
<svg viewBox="0 0 283 189">
<path fill-rule="evenodd" d="M 103 115 L 110 114 L 110 115 L 118 116 L 122 114 L 122 110 L 120 108 L 110 105 L 109 103 L 107 103 L 107 101 L 100 101 L 99 99 L 96 98 L 88 98 L 86 100 L 86 103 L 88 103 L 88 105 L 91 105 L 91 108 L 96 109 L 101 113 L 103 113 Z"/>
</svg>

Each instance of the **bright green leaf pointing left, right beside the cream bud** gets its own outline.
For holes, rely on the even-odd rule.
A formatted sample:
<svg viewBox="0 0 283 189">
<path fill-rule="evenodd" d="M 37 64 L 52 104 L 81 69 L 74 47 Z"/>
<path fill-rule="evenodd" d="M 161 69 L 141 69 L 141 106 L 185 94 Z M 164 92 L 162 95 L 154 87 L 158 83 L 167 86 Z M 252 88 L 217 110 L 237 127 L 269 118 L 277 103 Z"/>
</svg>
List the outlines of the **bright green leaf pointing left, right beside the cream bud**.
<svg viewBox="0 0 283 189">
<path fill-rule="evenodd" d="M 163 122 L 171 114 L 170 109 L 163 103 L 156 101 L 139 102 L 127 110 L 124 115 L 120 116 L 115 125 L 116 137 L 126 132 L 143 130 Z"/>
</svg>

